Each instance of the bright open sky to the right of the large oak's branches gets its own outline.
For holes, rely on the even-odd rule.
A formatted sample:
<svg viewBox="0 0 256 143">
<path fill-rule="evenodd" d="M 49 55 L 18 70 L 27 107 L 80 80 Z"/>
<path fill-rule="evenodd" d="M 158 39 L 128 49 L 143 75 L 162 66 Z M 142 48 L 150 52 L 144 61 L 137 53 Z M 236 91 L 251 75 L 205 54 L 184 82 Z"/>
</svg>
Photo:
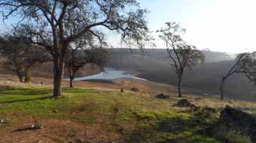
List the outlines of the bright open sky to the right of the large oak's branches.
<svg viewBox="0 0 256 143">
<path fill-rule="evenodd" d="M 256 0 L 139 0 L 151 11 L 148 26 L 165 22 L 187 29 L 184 40 L 198 49 L 239 53 L 256 50 Z M 156 35 L 157 36 L 157 35 Z M 156 41 L 157 48 L 164 48 Z"/>
</svg>

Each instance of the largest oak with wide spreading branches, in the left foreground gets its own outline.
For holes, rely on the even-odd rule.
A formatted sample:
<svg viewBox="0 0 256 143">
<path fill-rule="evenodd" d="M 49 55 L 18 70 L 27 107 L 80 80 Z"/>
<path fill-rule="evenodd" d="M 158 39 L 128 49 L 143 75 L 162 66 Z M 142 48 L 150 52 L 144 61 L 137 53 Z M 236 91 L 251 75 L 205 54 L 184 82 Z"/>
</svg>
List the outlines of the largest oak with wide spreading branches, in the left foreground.
<svg viewBox="0 0 256 143">
<path fill-rule="evenodd" d="M 31 42 L 53 55 L 53 96 L 61 96 L 67 51 L 83 34 L 115 31 L 123 43 L 139 47 L 149 40 L 147 10 L 137 0 L 2 0 L 0 9 L 3 19 L 22 24 Z"/>
</svg>

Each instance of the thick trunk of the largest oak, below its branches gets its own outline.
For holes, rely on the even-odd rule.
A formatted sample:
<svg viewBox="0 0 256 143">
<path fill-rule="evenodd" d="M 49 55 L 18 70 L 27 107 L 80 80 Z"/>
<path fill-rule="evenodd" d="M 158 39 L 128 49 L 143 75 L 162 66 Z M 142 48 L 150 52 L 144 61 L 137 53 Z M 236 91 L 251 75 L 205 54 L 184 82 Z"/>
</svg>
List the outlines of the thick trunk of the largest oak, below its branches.
<svg viewBox="0 0 256 143">
<path fill-rule="evenodd" d="M 54 55 L 54 67 L 53 67 L 53 97 L 61 96 L 61 84 L 64 71 L 65 61 Z"/>
</svg>

